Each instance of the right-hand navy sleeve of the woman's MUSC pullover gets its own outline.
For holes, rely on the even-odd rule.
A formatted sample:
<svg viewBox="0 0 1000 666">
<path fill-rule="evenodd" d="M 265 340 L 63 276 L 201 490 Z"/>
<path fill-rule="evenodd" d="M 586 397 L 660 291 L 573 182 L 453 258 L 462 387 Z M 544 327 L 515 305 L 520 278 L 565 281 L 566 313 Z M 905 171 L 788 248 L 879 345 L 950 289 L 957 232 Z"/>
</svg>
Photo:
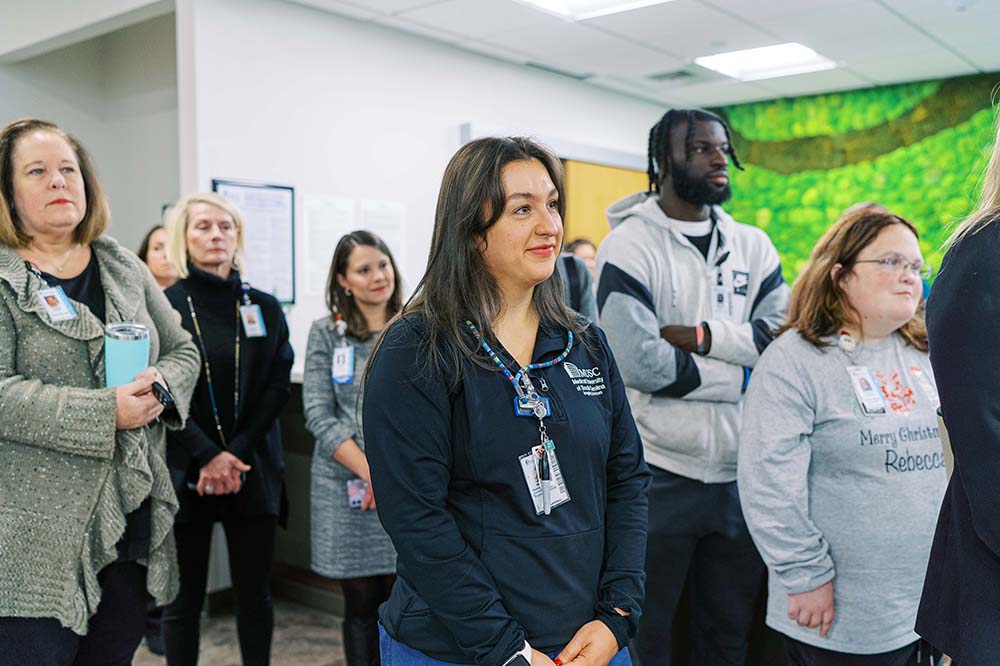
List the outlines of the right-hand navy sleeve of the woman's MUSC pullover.
<svg viewBox="0 0 1000 666">
<path fill-rule="evenodd" d="M 604 337 L 603 334 L 601 337 Z M 614 411 L 606 470 L 607 538 L 595 614 L 614 633 L 618 647 L 623 648 L 635 636 L 642 617 L 646 583 L 646 520 L 652 477 L 643 460 L 642 442 L 632 420 L 618 366 L 611 356 L 607 340 L 602 339 L 601 345 L 608 356 Z M 620 615 L 615 608 L 628 611 L 629 616 Z"/>
</svg>

